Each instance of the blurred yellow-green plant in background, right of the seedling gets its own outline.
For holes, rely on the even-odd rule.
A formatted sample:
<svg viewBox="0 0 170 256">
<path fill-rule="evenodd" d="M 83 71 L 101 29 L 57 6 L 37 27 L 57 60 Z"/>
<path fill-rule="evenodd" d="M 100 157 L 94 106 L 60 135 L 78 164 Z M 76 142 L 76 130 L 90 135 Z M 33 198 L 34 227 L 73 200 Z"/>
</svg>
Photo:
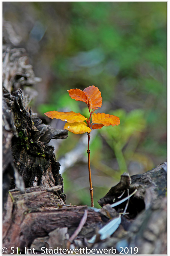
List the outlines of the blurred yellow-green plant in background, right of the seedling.
<svg viewBox="0 0 170 256">
<path fill-rule="evenodd" d="M 121 118 L 122 125 L 115 129 L 114 133 L 110 127 L 107 130 L 104 129 L 101 136 L 104 137 L 115 152 L 119 170 L 122 174 L 123 172 L 128 172 L 127 162 L 132 159 L 139 140 L 137 139 L 135 143 L 129 143 L 124 154 L 123 149 L 129 142 L 131 136 L 140 138 L 140 133 L 146 128 L 146 122 L 144 111 L 141 109 L 136 109 L 130 113 L 126 113 L 126 111 L 120 109 L 115 111 L 115 113 Z"/>
</svg>

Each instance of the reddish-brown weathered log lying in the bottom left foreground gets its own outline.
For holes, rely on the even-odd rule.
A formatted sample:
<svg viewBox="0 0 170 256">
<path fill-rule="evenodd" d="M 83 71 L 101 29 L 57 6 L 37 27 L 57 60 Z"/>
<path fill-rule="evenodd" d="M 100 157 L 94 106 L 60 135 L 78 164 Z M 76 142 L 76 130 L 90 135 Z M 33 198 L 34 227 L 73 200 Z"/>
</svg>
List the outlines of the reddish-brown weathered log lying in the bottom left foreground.
<svg viewBox="0 0 170 256">
<path fill-rule="evenodd" d="M 67 227 L 72 232 L 78 226 L 87 206 L 64 206 L 60 196 L 61 187 L 47 189 L 37 186 L 25 189 L 24 193 L 16 189 L 10 191 L 5 204 L 4 247 L 10 250 L 13 245 L 23 252 L 25 247 L 31 246 L 35 238 L 46 236 L 56 228 Z M 94 233 L 90 226 L 100 221 L 100 215 L 89 209 L 85 224 L 87 232 Z"/>
</svg>

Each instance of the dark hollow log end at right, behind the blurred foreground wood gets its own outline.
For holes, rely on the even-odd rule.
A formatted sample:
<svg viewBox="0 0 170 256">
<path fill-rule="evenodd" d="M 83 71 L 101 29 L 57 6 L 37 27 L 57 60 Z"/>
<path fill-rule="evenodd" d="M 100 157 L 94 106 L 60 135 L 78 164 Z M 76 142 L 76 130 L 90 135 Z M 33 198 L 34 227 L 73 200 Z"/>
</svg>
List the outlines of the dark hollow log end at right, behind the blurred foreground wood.
<svg viewBox="0 0 170 256">
<path fill-rule="evenodd" d="M 133 198 L 130 198 L 127 208 L 127 212 L 134 218 L 142 210 L 147 210 L 158 198 L 166 196 L 166 175 L 166 163 L 146 173 L 136 174 L 131 177 L 128 173 L 124 173 L 121 175 L 121 181 L 112 187 L 103 198 L 100 198 L 98 203 L 100 206 L 112 204 L 113 201 L 117 202 L 120 200 L 118 197 L 124 191 L 125 193 L 122 198 L 126 197 L 127 189 L 129 189 L 130 194 L 137 189 L 138 191 Z M 125 205 L 126 202 L 120 206 L 124 208 Z M 119 210 L 120 206 L 115 207 L 115 209 Z"/>
</svg>

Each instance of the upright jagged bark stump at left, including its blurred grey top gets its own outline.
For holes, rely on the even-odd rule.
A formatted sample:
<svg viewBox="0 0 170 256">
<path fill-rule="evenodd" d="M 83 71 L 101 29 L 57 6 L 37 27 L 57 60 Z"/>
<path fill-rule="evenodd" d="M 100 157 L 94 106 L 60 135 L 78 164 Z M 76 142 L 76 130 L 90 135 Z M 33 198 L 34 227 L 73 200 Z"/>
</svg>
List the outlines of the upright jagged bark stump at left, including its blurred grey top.
<svg viewBox="0 0 170 256">
<path fill-rule="evenodd" d="M 26 108 L 35 97 L 31 86 L 40 79 L 35 77 L 32 66 L 25 64 L 24 54 L 21 48 L 4 47 L 3 51 L 3 206 L 8 189 L 15 186 L 24 191 L 31 186 L 61 185 L 60 194 L 64 191 L 54 147 L 47 143 L 66 139 L 68 131 L 43 124 L 32 115 L 31 108 Z M 61 197 L 64 201 L 66 196 Z"/>
</svg>

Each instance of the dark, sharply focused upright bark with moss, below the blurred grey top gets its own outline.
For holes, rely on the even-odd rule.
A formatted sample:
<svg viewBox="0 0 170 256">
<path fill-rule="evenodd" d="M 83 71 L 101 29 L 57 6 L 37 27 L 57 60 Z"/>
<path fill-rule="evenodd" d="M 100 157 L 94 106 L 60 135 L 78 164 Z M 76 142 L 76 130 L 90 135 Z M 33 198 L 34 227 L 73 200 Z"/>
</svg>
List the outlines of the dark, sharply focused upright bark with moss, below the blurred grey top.
<svg viewBox="0 0 170 256">
<path fill-rule="evenodd" d="M 67 131 L 48 127 L 41 124 L 39 118 L 32 118 L 31 108 L 29 111 L 26 109 L 21 90 L 13 94 L 3 93 L 3 96 L 13 113 L 17 134 L 12 137 L 11 148 L 15 167 L 21 174 L 25 186 L 62 185 L 63 180 L 59 174 L 60 164 L 56 161 L 54 148 L 42 141 L 66 139 Z M 5 160 L 6 156 L 4 156 Z"/>
</svg>

